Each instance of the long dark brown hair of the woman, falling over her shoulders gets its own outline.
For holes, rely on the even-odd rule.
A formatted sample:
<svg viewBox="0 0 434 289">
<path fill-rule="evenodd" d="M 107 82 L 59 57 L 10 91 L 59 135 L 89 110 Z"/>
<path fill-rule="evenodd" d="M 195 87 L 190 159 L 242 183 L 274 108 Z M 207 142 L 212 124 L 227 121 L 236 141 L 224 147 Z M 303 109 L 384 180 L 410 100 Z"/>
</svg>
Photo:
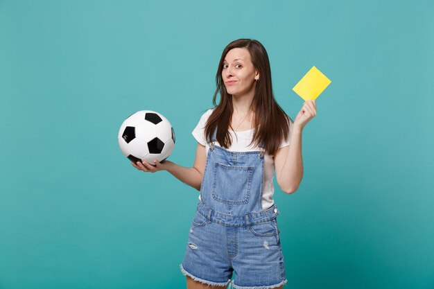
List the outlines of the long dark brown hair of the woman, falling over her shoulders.
<svg viewBox="0 0 434 289">
<path fill-rule="evenodd" d="M 252 143 L 259 145 L 264 143 L 264 148 L 269 155 L 275 155 L 281 141 L 288 138 L 289 121 L 292 119 L 281 109 L 272 93 L 271 69 L 268 54 L 263 45 L 257 40 L 238 39 L 227 44 L 218 63 L 216 73 L 216 92 L 213 97 L 214 111 L 205 124 L 205 137 L 208 141 L 211 134 L 217 128 L 216 140 L 223 148 L 229 148 L 232 144 L 229 127 L 232 121 L 234 107 L 232 95 L 228 94 L 222 78 L 223 60 L 227 52 L 234 48 L 245 48 L 250 53 L 250 59 L 255 69 L 259 71 L 259 80 L 256 83 L 254 98 L 250 108 L 254 111 L 254 134 Z M 220 103 L 216 104 L 217 94 L 220 93 Z M 249 146 L 250 146 L 249 145 Z"/>
</svg>

